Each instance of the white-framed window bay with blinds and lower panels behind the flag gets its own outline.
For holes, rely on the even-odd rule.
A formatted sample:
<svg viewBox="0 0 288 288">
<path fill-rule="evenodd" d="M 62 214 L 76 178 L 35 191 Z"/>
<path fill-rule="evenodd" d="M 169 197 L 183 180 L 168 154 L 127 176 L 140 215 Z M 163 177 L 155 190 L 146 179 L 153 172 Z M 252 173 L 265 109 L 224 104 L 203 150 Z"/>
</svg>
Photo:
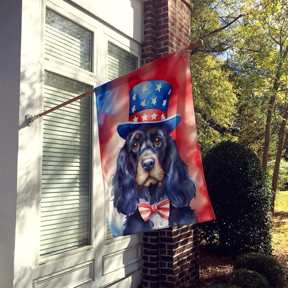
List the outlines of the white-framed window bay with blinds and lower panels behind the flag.
<svg viewBox="0 0 288 288">
<path fill-rule="evenodd" d="M 138 42 L 67 1 L 42 5 L 40 112 L 138 67 Z M 50 285 L 59 276 L 96 288 L 141 269 L 142 236 L 111 239 L 106 223 L 95 95 L 44 115 L 39 124 L 34 282 Z"/>
</svg>

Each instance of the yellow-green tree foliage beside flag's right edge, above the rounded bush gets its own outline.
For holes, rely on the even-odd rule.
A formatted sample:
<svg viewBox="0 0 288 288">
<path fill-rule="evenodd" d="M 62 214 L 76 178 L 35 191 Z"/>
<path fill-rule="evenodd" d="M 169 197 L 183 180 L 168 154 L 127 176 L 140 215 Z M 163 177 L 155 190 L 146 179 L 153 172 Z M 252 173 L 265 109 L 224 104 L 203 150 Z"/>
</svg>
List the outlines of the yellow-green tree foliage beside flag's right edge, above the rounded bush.
<svg viewBox="0 0 288 288">
<path fill-rule="evenodd" d="M 237 98 L 223 61 L 215 56 L 194 56 L 192 91 L 198 139 L 202 154 L 216 143 L 233 139 Z M 205 69 L 203 69 L 205 67 Z"/>
</svg>

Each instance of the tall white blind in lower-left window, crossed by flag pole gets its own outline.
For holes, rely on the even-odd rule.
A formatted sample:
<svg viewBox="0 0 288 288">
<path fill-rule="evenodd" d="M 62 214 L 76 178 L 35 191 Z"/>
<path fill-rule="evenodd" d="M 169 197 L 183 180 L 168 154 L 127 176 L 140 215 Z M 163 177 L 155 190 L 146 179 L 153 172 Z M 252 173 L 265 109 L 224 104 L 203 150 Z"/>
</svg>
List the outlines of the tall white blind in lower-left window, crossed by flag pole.
<svg viewBox="0 0 288 288">
<path fill-rule="evenodd" d="M 90 89 L 45 71 L 44 111 Z M 43 116 L 41 258 L 90 244 L 90 101 Z"/>
</svg>

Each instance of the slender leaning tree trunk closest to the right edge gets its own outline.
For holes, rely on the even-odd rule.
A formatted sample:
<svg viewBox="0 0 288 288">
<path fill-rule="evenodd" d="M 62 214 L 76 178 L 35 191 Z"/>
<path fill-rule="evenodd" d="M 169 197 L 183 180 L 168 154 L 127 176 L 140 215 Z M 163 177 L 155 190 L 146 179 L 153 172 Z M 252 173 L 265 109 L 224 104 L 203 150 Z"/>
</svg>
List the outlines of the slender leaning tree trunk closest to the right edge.
<svg viewBox="0 0 288 288">
<path fill-rule="evenodd" d="M 286 122 L 288 118 L 288 107 L 285 109 L 285 113 L 283 116 L 283 120 L 279 130 L 279 140 L 278 140 L 278 148 L 277 148 L 277 155 L 275 160 L 275 166 L 273 171 L 273 178 L 272 178 L 272 199 L 271 199 L 271 212 L 274 213 L 274 206 L 275 206 L 275 198 L 276 198 L 276 191 L 277 191 L 277 182 L 279 177 L 279 168 L 280 168 L 280 161 L 282 157 L 282 152 L 286 148 L 288 134 L 285 132 Z M 285 137 L 286 134 L 286 138 Z"/>
</svg>

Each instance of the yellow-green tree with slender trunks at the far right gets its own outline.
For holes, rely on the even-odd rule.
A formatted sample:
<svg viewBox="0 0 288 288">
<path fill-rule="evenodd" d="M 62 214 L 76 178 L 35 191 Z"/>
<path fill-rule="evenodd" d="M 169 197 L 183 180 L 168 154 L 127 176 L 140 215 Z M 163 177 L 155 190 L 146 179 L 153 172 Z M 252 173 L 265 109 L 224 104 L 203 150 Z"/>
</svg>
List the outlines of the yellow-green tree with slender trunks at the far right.
<svg viewBox="0 0 288 288">
<path fill-rule="evenodd" d="M 249 18 L 238 26 L 242 41 L 236 41 L 233 57 L 242 69 L 238 76 L 240 81 L 250 88 L 244 92 L 258 107 L 263 108 L 265 103 L 262 110 L 266 115 L 262 157 L 264 171 L 267 170 L 273 125 L 278 130 L 272 177 L 271 209 L 274 211 L 280 161 L 288 140 L 288 5 L 287 0 L 253 0 L 251 3 L 250 7 L 247 6 Z"/>
</svg>

